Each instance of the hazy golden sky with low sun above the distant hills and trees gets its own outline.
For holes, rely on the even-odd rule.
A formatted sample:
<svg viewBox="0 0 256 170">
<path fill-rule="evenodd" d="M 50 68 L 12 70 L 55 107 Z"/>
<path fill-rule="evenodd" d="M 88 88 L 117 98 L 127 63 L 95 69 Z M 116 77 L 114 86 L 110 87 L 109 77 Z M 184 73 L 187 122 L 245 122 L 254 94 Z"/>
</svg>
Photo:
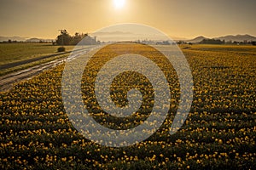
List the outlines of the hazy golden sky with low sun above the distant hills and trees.
<svg viewBox="0 0 256 170">
<path fill-rule="evenodd" d="M 55 38 L 119 23 L 153 26 L 171 37 L 256 36 L 256 0 L 0 0 L 0 36 Z"/>
</svg>

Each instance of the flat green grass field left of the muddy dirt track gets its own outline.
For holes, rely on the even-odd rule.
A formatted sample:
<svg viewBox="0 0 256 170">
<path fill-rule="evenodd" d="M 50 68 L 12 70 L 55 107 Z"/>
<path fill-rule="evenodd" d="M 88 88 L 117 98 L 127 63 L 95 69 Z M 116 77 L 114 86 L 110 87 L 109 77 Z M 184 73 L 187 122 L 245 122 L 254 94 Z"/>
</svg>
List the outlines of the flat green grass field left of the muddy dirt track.
<svg viewBox="0 0 256 170">
<path fill-rule="evenodd" d="M 59 47 L 38 42 L 0 43 L 0 76 L 67 57 L 67 52 L 57 53 Z M 72 51 L 74 46 L 65 48 Z"/>
</svg>

